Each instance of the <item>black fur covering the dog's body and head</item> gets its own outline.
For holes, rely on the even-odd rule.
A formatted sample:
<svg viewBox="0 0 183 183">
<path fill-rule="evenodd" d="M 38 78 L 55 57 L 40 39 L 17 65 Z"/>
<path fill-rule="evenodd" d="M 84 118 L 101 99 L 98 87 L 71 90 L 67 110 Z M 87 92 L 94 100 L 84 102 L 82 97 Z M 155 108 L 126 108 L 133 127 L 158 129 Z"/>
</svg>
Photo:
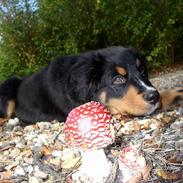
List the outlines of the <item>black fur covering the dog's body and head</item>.
<svg viewBox="0 0 183 183">
<path fill-rule="evenodd" d="M 138 72 L 137 58 L 141 61 Z M 123 86 L 113 84 L 117 66 L 130 69 L 129 82 L 136 82 L 131 79 L 136 74 L 135 77 L 148 83 L 144 60 L 135 49 L 111 47 L 58 57 L 30 77 L 5 81 L 0 86 L 0 114 L 4 115 L 7 101 L 13 98 L 14 115 L 25 122 L 63 121 L 72 108 L 91 100 L 100 101 L 101 91 L 106 90 L 108 98 L 117 98 L 125 92 Z"/>
</svg>

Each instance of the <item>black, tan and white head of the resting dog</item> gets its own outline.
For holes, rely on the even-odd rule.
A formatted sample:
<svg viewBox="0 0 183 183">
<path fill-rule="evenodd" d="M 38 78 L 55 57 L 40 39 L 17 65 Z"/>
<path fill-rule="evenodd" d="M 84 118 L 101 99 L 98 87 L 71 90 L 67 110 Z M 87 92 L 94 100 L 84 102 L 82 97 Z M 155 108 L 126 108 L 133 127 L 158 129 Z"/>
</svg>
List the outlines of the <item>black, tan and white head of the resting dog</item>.
<svg viewBox="0 0 183 183">
<path fill-rule="evenodd" d="M 97 100 L 112 114 L 141 116 L 158 108 L 159 93 L 148 80 L 145 59 L 136 49 L 111 47 L 99 50 L 98 55 L 107 64 L 101 66 Z"/>
</svg>

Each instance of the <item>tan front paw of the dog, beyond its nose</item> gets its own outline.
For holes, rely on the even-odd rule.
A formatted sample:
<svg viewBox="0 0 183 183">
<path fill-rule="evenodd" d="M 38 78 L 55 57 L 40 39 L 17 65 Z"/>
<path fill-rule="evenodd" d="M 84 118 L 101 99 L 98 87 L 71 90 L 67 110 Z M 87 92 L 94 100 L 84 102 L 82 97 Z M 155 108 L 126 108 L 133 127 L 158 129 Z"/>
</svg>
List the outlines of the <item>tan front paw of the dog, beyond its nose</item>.
<svg viewBox="0 0 183 183">
<path fill-rule="evenodd" d="M 161 109 L 167 109 L 177 100 L 183 100 L 183 88 L 175 88 L 160 92 Z"/>
</svg>

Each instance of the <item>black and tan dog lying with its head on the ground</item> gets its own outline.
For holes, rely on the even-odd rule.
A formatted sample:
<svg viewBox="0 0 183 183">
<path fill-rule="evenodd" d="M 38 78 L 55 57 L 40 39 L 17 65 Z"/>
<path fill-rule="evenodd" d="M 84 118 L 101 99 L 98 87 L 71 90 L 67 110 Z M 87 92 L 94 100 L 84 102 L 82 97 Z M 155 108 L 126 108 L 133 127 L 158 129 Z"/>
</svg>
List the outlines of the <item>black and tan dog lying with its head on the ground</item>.
<svg viewBox="0 0 183 183">
<path fill-rule="evenodd" d="M 177 96 L 182 90 L 160 94 L 153 87 L 137 49 L 114 46 L 57 57 L 29 77 L 7 79 L 0 85 L 0 117 L 65 121 L 73 108 L 89 101 L 104 104 L 113 115 L 144 116 Z"/>
</svg>

